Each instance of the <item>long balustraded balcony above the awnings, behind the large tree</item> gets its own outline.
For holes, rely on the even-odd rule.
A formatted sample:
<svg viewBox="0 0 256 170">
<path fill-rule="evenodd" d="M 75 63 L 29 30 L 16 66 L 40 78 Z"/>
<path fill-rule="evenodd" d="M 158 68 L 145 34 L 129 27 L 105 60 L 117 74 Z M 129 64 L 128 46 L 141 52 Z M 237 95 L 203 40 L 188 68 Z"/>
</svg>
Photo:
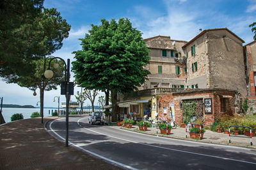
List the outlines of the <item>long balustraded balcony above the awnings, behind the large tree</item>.
<svg viewBox="0 0 256 170">
<path fill-rule="evenodd" d="M 124 100 L 139 98 L 139 97 L 149 97 L 154 95 L 164 95 L 170 94 L 177 91 L 186 91 L 185 88 L 152 88 L 152 89 L 143 89 L 140 91 L 133 91 L 131 93 L 126 93 L 124 95 Z"/>
</svg>

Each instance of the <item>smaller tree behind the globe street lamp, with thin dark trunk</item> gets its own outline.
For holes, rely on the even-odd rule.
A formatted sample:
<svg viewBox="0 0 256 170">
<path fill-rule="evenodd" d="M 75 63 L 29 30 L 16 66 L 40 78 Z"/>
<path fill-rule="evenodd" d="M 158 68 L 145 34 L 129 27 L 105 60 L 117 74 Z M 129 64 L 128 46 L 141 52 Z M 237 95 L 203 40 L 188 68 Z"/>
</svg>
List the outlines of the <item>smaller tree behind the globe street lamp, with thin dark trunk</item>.
<svg viewBox="0 0 256 170">
<path fill-rule="evenodd" d="M 46 63 L 49 63 L 50 59 L 51 58 L 47 58 Z M 54 68 L 54 64 L 56 63 L 59 65 L 58 68 Z M 19 86 L 26 87 L 32 91 L 35 91 L 37 88 L 40 89 L 40 114 L 42 116 L 42 112 L 44 111 L 44 91 L 57 89 L 57 86 L 59 86 L 62 81 L 65 81 L 65 77 L 63 76 L 65 66 L 63 65 L 63 62 L 59 60 L 51 62 L 51 70 L 54 72 L 54 76 L 52 79 L 45 79 L 45 81 L 43 81 L 44 59 L 33 61 L 33 64 L 37 68 L 36 72 L 31 73 L 31 75 L 28 76 L 20 76 L 15 82 L 17 82 Z"/>
</svg>

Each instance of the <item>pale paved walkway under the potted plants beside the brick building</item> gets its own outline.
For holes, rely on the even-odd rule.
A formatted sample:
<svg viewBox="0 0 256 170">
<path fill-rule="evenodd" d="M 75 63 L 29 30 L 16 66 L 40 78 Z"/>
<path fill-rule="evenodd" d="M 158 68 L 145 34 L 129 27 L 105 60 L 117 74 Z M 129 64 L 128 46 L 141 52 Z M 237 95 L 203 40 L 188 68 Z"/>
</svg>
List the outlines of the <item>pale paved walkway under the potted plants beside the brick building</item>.
<svg viewBox="0 0 256 170">
<path fill-rule="evenodd" d="M 115 128 L 123 128 L 125 130 L 132 130 L 134 132 L 145 133 L 145 134 L 150 134 L 150 135 L 173 137 L 173 138 L 190 140 L 190 141 L 198 141 L 198 142 L 202 142 L 202 143 L 233 145 L 233 146 L 240 146 L 240 147 L 245 147 L 245 148 L 250 148 L 250 149 L 256 150 L 256 137 L 252 137 L 253 145 L 251 146 L 250 138 L 246 138 L 245 135 L 237 135 L 237 136 L 244 136 L 244 137 L 231 137 L 231 143 L 229 143 L 228 142 L 228 140 L 229 140 L 228 134 L 212 132 L 211 130 L 205 130 L 204 139 L 199 140 L 199 139 L 189 138 L 189 133 L 187 135 L 188 138 L 186 138 L 186 128 L 181 128 L 181 127 L 172 129 L 170 135 L 160 134 L 159 129 L 152 128 L 152 127 L 148 128 L 147 131 L 138 130 L 139 129 L 138 126 L 134 126 L 134 125 L 132 125 L 132 128 L 124 128 L 124 127 L 118 127 L 118 126 L 115 126 Z"/>
</svg>

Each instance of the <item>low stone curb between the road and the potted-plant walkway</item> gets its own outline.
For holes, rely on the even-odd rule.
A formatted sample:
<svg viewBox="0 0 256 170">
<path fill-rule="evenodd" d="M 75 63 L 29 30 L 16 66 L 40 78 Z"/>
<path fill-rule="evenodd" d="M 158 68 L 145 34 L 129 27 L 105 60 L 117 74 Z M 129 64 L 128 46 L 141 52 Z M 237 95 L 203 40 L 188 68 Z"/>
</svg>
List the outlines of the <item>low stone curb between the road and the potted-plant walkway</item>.
<svg viewBox="0 0 256 170">
<path fill-rule="evenodd" d="M 174 137 L 174 136 L 159 135 L 159 134 L 148 134 L 146 132 L 140 132 L 140 131 L 137 131 L 137 130 L 130 130 L 130 129 L 123 128 L 123 127 L 121 127 L 121 129 L 129 130 L 131 132 L 136 132 L 136 133 L 145 134 L 145 135 L 154 135 L 154 136 L 157 136 L 157 137 L 166 137 L 166 138 L 172 138 L 172 139 L 180 139 L 180 140 L 183 140 L 183 141 L 193 141 L 193 142 L 196 142 L 196 143 L 219 144 L 219 145 L 222 145 L 222 146 L 236 146 L 236 147 L 248 148 L 250 150 L 255 150 L 256 151 L 255 147 L 247 146 L 247 145 L 243 145 L 243 144 L 239 145 L 239 144 L 234 144 L 234 143 L 214 143 L 214 142 L 208 142 L 208 141 L 197 141 L 197 140 L 189 139 L 189 138 L 186 138 L 186 137 L 176 137 L 176 136 Z"/>
</svg>

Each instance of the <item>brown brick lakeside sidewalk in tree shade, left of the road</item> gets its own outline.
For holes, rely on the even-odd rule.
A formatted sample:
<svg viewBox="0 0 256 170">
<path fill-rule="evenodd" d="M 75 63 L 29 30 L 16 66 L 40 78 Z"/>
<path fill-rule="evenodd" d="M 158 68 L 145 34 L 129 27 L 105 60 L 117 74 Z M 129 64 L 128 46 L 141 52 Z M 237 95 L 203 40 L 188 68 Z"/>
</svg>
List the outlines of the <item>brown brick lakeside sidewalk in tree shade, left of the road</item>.
<svg viewBox="0 0 256 170">
<path fill-rule="evenodd" d="M 0 139 L 0 169 L 120 169 L 65 147 L 45 131 L 40 118 L 0 126 Z"/>
</svg>

